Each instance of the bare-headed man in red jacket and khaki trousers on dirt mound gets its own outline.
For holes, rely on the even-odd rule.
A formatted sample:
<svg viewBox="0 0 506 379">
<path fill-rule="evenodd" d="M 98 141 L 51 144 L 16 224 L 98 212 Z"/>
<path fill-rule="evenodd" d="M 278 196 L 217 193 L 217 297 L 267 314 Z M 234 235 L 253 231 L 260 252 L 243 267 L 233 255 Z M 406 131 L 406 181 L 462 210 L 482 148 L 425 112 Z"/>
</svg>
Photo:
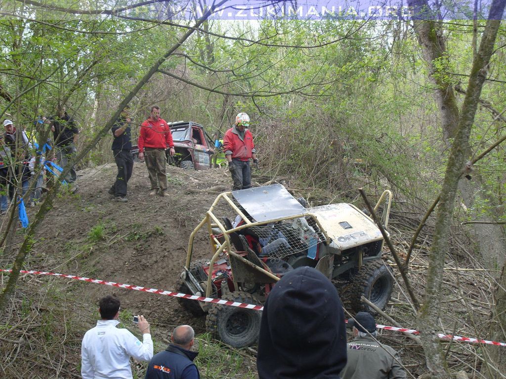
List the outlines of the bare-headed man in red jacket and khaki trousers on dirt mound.
<svg viewBox="0 0 506 379">
<path fill-rule="evenodd" d="M 164 119 L 160 118 L 160 108 L 156 105 L 151 107 L 151 116 L 141 125 L 138 146 L 139 159 L 144 159 L 144 151 L 146 152 L 146 167 L 151 182 L 149 195 L 155 196 L 159 193 L 160 196 L 168 196 L 165 149 L 171 148 L 171 156 L 176 151 L 174 150 L 171 128 L 168 127 Z"/>
</svg>

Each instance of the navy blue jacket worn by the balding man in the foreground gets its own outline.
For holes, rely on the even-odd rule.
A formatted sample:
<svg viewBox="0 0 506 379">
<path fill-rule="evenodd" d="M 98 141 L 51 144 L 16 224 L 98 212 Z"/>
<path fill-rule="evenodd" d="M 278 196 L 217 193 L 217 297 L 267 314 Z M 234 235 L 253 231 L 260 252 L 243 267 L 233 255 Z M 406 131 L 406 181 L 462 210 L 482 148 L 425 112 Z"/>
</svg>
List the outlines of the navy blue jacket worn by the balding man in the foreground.
<svg viewBox="0 0 506 379">
<path fill-rule="evenodd" d="M 176 345 L 168 345 L 151 358 L 145 379 L 200 379 L 197 366 L 193 363 L 197 354 Z"/>
</svg>

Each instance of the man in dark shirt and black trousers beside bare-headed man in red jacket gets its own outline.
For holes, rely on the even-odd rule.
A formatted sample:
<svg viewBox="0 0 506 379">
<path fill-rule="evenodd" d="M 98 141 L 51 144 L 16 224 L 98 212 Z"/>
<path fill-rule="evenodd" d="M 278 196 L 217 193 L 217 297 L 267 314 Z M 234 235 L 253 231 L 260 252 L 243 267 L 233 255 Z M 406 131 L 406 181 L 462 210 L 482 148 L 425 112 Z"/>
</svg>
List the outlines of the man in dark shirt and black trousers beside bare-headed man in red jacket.
<svg viewBox="0 0 506 379">
<path fill-rule="evenodd" d="M 114 140 L 112 141 L 112 153 L 114 161 L 118 167 L 116 181 L 109 189 L 109 194 L 114 196 L 116 201 L 121 203 L 128 202 L 126 198 L 126 183 L 132 176 L 134 168 L 134 158 L 132 157 L 132 141 L 130 123 L 132 118 L 129 115 L 129 107 L 126 106 L 116 123 L 111 128 Z"/>
</svg>

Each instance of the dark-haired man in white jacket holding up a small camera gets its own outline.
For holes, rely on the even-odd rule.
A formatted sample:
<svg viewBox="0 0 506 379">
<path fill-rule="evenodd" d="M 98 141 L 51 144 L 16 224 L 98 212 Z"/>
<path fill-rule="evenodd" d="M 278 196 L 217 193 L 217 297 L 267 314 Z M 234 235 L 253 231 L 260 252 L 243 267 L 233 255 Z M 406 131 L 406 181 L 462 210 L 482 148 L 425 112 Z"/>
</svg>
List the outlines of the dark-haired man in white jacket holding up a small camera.
<svg viewBox="0 0 506 379">
<path fill-rule="evenodd" d="M 148 321 L 142 315 L 137 316 L 137 326 L 143 337 L 141 342 L 129 330 L 116 328 L 119 306 L 119 299 L 114 295 L 100 299 L 98 311 L 102 319 L 82 339 L 82 379 L 132 379 L 130 357 L 141 361 L 149 361 L 153 357 Z"/>
</svg>

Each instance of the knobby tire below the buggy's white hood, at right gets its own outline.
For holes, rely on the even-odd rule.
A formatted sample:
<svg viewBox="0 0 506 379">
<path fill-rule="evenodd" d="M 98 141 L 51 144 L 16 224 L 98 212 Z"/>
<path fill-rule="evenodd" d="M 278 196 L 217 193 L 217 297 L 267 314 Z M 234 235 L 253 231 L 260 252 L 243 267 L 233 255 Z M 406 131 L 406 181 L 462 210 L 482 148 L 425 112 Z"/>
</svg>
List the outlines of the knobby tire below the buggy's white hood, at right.
<svg viewBox="0 0 506 379">
<path fill-rule="evenodd" d="M 371 307 L 360 301 L 364 296 L 372 304 L 383 310 L 390 301 L 394 279 L 392 269 L 383 260 L 377 259 L 366 262 L 351 278 L 349 300 L 355 312 L 369 312 L 376 314 Z"/>
</svg>

